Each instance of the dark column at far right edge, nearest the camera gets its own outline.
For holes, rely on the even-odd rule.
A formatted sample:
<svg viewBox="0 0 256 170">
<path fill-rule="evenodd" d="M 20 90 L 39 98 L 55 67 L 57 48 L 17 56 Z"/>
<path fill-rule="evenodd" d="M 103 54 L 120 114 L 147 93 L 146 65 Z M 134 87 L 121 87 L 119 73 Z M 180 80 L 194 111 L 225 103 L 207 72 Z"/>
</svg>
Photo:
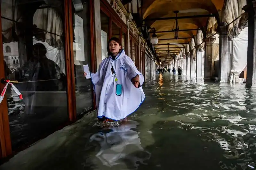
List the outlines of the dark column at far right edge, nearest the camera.
<svg viewBox="0 0 256 170">
<path fill-rule="evenodd" d="M 256 87 L 256 1 L 247 3 L 243 10 L 249 14 L 246 87 L 252 88 Z"/>
</svg>

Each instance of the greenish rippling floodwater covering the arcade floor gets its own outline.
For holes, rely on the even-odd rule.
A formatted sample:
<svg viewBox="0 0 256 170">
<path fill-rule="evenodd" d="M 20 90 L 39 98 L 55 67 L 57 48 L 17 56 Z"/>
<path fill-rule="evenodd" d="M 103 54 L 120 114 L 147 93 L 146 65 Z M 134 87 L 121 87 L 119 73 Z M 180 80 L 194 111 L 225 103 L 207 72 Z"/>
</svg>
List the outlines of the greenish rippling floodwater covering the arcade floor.
<svg viewBox="0 0 256 170">
<path fill-rule="evenodd" d="M 110 128 L 78 121 L 0 169 L 247 170 L 256 161 L 256 90 L 165 73 L 146 99 Z M 83 118 L 84 119 L 84 118 Z M 88 119 L 88 118 L 87 118 Z"/>
</svg>

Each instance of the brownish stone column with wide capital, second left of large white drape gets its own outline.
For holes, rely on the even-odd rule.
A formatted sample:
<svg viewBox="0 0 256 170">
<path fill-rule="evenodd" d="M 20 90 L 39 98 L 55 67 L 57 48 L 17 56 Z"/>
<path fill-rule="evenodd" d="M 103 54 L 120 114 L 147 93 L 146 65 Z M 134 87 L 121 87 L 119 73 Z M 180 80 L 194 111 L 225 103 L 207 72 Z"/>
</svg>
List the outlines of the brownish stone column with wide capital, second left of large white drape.
<svg viewBox="0 0 256 170">
<path fill-rule="evenodd" d="M 210 79 L 214 78 L 214 58 L 212 53 L 212 45 L 216 38 L 210 37 L 205 38 L 205 53 L 204 53 L 204 78 Z"/>
</svg>

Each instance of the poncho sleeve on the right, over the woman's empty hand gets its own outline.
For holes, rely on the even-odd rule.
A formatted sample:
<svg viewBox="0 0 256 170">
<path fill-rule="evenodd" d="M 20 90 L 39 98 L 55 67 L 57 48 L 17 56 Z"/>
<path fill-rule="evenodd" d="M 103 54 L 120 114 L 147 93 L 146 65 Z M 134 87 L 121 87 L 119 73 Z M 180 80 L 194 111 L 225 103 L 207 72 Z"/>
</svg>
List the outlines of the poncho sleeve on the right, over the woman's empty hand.
<svg viewBox="0 0 256 170">
<path fill-rule="evenodd" d="M 144 76 L 141 74 L 141 72 L 136 68 L 136 66 L 134 65 L 134 63 L 132 62 L 132 59 L 128 56 L 124 57 L 124 64 L 127 70 L 127 76 L 130 80 L 132 80 L 132 78 L 136 77 L 137 75 L 139 75 L 140 77 L 140 85 L 142 85 L 144 83 Z"/>
</svg>

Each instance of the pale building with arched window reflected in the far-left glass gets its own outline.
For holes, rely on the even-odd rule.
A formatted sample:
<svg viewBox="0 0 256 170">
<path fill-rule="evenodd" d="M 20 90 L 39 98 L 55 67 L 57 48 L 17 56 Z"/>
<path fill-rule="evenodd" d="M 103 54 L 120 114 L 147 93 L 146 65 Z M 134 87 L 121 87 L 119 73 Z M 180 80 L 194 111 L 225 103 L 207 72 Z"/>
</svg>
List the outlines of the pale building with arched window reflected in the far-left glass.
<svg viewBox="0 0 256 170">
<path fill-rule="evenodd" d="M 20 68 L 20 56 L 18 42 L 4 43 L 4 61 L 9 69 Z"/>
</svg>

